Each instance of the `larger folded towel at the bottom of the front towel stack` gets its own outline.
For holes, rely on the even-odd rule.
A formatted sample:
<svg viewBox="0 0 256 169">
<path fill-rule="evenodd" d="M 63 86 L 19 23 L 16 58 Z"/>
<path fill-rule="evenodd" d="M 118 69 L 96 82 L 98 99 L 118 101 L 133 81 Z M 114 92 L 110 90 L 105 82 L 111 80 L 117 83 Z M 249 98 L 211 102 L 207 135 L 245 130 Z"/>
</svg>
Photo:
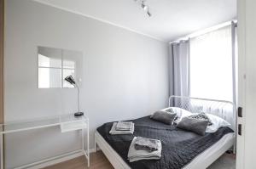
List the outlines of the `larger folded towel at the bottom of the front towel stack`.
<svg viewBox="0 0 256 169">
<path fill-rule="evenodd" d="M 137 137 L 134 137 L 131 141 L 131 145 L 128 151 L 128 160 L 130 162 L 133 161 L 140 161 L 140 160 L 160 160 L 161 158 L 161 151 L 162 151 L 162 144 L 160 140 L 157 141 L 157 150 L 148 152 L 143 149 L 135 149 L 135 142 Z"/>
</svg>

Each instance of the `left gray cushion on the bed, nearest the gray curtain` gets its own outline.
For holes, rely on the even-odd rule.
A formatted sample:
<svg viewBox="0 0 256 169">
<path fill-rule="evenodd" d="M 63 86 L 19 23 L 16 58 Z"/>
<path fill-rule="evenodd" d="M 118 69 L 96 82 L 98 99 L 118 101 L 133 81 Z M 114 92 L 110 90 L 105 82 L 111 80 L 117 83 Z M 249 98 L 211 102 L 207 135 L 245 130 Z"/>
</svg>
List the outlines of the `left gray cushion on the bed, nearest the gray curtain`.
<svg viewBox="0 0 256 169">
<path fill-rule="evenodd" d="M 176 113 L 169 113 L 163 110 L 157 110 L 154 112 L 153 115 L 150 116 L 151 119 L 166 123 L 168 125 L 172 124 L 175 117 L 176 117 Z"/>
</svg>

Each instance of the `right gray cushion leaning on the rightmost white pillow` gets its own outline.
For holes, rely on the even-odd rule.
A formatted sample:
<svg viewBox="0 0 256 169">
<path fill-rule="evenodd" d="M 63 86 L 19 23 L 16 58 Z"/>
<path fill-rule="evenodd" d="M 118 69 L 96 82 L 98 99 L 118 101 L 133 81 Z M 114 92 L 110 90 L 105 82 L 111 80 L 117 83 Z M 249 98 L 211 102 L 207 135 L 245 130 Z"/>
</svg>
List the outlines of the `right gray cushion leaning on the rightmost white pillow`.
<svg viewBox="0 0 256 169">
<path fill-rule="evenodd" d="M 177 123 L 177 127 L 203 136 L 206 133 L 208 123 L 209 121 L 207 120 L 183 117 L 183 119 Z"/>
</svg>

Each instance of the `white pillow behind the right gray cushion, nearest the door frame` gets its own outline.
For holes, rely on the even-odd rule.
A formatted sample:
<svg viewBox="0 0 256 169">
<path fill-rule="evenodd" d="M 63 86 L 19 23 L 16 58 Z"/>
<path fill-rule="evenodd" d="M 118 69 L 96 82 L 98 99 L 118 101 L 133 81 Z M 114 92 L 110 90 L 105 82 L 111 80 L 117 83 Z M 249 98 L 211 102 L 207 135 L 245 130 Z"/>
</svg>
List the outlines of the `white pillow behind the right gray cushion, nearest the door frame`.
<svg viewBox="0 0 256 169">
<path fill-rule="evenodd" d="M 206 113 L 206 115 L 212 121 L 212 125 L 207 127 L 206 132 L 217 132 L 219 127 L 230 127 L 231 126 L 228 121 L 225 121 L 224 119 L 218 117 L 217 115 L 212 115 L 209 113 Z"/>
</svg>

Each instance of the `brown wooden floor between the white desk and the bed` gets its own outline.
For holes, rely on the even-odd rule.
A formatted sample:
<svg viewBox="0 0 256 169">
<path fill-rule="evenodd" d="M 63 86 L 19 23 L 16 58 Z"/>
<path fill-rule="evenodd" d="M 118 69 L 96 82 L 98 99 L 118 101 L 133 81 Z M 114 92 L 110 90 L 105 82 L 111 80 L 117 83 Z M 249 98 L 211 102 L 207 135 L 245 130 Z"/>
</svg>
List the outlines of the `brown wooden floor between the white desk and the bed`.
<svg viewBox="0 0 256 169">
<path fill-rule="evenodd" d="M 61 162 L 54 166 L 48 166 L 44 169 L 88 169 L 87 160 L 80 156 L 70 161 Z M 90 169 L 113 169 L 102 151 L 90 154 Z"/>
</svg>

